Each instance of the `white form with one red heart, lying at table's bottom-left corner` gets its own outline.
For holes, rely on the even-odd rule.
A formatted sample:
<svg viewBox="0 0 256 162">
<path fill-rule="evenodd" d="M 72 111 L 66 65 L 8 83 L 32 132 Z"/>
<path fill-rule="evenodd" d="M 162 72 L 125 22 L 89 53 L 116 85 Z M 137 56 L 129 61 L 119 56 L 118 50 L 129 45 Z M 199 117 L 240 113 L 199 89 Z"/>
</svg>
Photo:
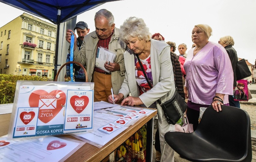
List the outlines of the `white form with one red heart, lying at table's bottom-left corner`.
<svg viewBox="0 0 256 162">
<path fill-rule="evenodd" d="M 1 162 L 60 161 L 82 142 L 58 137 L 44 137 L 43 140 L 38 140 L 38 138 L 16 139 L 15 141 L 16 143 L 0 149 Z"/>
</svg>

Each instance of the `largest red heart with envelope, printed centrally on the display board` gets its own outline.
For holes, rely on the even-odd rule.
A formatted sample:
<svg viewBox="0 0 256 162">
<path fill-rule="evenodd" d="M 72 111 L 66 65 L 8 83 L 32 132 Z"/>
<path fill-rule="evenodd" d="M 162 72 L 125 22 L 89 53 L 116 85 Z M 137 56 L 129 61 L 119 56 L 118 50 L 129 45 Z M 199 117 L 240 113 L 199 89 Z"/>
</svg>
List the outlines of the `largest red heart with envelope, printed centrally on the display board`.
<svg viewBox="0 0 256 162">
<path fill-rule="evenodd" d="M 65 106 L 65 103 L 66 94 L 60 90 L 54 90 L 50 93 L 36 90 L 29 96 L 29 106 L 39 107 L 38 119 L 44 123 L 51 121 Z"/>
</svg>

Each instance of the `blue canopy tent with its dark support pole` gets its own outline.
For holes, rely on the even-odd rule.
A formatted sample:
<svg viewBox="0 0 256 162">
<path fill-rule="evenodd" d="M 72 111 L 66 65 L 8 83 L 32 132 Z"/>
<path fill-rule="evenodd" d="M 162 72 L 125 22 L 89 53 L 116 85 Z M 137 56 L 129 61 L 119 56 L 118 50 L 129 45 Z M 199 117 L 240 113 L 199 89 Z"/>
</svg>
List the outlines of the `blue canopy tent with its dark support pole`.
<svg viewBox="0 0 256 162">
<path fill-rule="evenodd" d="M 0 2 L 43 17 L 57 25 L 56 51 L 54 78 L 57 73 L 58 46 L 59 46 L 59 25 L 73 17 L 98 7 L 101 4 L 118 0 L 0 0 Z"/>
</svg>

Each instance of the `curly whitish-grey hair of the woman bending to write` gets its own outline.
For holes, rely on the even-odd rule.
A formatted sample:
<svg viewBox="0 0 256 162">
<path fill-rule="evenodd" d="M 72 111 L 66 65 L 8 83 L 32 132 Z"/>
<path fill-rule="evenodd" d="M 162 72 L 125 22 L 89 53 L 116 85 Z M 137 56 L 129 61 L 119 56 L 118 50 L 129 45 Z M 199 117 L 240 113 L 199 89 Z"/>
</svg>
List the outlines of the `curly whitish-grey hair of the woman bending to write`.
<svg viewBox="0 0 256 162">
<path fill-rule="evenodd" d="M 151 39 L 151 33 L 144 20 L 137 17 L 126 19 L 120 26 L 119 34 L 124 42 L 128 42 L 133 37 L 138 37 L 139 40 L 145 39 L 145 41 Z"/>
</svg>

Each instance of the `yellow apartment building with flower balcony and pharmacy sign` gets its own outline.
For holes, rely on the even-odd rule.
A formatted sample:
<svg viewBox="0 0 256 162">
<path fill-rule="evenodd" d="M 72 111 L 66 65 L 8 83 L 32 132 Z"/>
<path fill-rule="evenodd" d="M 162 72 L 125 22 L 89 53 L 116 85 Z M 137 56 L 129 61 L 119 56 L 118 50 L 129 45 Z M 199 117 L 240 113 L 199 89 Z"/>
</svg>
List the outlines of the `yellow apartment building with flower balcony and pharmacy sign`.
<svg viewBox="0 0 256 162">
<path fill-rule="evenodd" d="M 53 79 L 56 25 L 23 13 L 0 33 L 0 74 Z"/>
</svg>

